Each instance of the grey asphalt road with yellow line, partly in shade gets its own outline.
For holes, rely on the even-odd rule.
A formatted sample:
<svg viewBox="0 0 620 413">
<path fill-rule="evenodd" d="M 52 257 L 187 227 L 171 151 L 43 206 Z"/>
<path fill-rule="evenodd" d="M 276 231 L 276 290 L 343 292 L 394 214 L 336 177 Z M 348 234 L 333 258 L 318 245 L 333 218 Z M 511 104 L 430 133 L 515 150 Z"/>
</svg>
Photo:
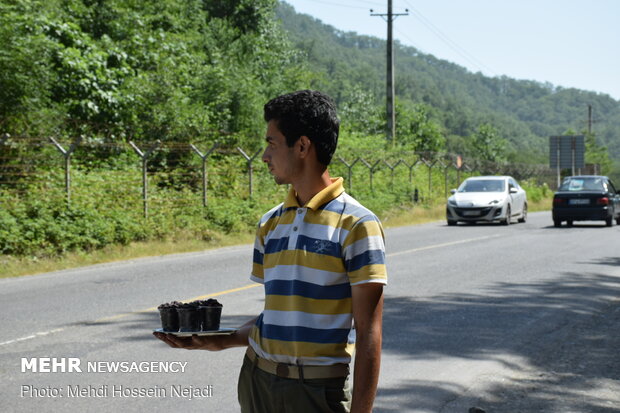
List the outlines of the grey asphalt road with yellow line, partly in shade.
<svg viewBox="0 0 620 413">
<path fill-rule="evenodd" d="M 386 236 L 376 412 L 620 411 L 620 227 L 553 228 L 536 213 Z M 250 262 L 245 245 L 0 280 L 0 410 L 238 411 L 242 349 L 174 350 L 151 330 L 171 300 L 217 297 L 224 327 L 257 315 Z M 22 358 L 43 357 L 77 358 L 82 372 L 22 372 Z M 87 369 L 121 361 L 186 364 Z"/>
</svg>

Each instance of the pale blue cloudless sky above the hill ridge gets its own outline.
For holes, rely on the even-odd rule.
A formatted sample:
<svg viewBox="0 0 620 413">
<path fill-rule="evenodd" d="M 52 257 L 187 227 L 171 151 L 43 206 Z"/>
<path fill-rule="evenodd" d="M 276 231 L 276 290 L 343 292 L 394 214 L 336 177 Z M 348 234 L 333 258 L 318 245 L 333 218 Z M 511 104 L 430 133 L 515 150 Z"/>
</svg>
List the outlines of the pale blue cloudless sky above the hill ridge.
<svg viewBox="0 0 620 413">
<path fill-rule="evenodd" d="M 285 0 L 338 30 L 387 37 L 387 0 Z M 394 39 L 471 72 L 620 101 L 620 0 L 393 0 Z M 398 70 L 398 61 L 396 69 Z"/>
</svg>

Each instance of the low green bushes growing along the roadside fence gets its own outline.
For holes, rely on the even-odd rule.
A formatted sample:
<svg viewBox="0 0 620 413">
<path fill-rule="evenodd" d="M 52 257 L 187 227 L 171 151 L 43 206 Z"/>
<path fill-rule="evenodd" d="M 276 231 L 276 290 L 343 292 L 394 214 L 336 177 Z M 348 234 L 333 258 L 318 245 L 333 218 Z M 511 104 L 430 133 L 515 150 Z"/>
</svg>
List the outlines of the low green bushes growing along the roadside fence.
<svg viewBox="0 0 620 413">
<path fill-rule="evenodd" d="M 361 140 L 344 136 L 338 154 L 347 162 L 357 159 Z M 414 159 L 402 148 L 386 150 L 380 139 L 364 142 L 364 159 L 376 165 L 373 184 L 361 161 L 348 170 L 337 158 L 331 175 L 344 176 L 345 188 L 379 217 L 403 205 L 411 207 L 417 189 L 421 205 L 445 202 L 450 188 L 457 186 L 456 171 L 439 164 L 431 169 L 416 164 L 411 170 L 400 159 Z M 137 161 L 137 159 L 136 159 Z M 379 163 L 376 163 L 379 161 Z M 384 161 L 387 161 L 385 163 Z M 407 161 L 409 162 L 409 161 Z M 411 165 L 411 162 L 409 162 Z M 38 180 L 22 191 L 0 191 L 0 253 L 15 256 L 58 256 L 72 251 L 92 251 L 108 245 L 140 241 L 213 241 L 224 234 L 253 233 L 258 219 L 282 202 L 287 187 L 278 186 L 256 161 L 252 197 L 248 191 L 247 165 L 240 156 L 220 157 L 209 164 L 208 205 L 202 205 L 197 165 L 150 172 L 148 218 L 143 215 L 141 172 L 138 162 L 113 167 L 78 163 L 71 172 L 71 201 L 67 203 L 62 170 L 41 170 Z M 467 176 L 463 174 L 460 179 Z M 547 186 L 524 181 L 528 198 L 548 197 Z"/>
</svg>

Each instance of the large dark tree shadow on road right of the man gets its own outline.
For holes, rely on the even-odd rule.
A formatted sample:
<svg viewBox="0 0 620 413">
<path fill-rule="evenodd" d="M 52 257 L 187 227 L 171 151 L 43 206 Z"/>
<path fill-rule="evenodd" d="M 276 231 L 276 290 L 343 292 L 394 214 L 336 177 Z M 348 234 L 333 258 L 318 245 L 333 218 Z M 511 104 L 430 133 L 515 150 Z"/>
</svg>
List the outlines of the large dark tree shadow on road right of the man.
<svg viewBox="0 0 620 413">
<path fill-rule="evenodd" d="M 618 266 L 620 258 L 600 264 Z M 438 398 L 465 397 L 487 412 L 618 412 L 610 399 L 620 401 L 619 298 L 620 277 L 595 273 L 498 283 L 484 295 L 388 296 L 384 353 L 420 361 L 492 360 L 510 375 L 492 378 L 501 384 L 484 394 L 440 381 L 381 388 L 385 402 L 376 411 L 435 411 Z M 449 404 L 442 411 L 467 411 Z"/>
</svg>

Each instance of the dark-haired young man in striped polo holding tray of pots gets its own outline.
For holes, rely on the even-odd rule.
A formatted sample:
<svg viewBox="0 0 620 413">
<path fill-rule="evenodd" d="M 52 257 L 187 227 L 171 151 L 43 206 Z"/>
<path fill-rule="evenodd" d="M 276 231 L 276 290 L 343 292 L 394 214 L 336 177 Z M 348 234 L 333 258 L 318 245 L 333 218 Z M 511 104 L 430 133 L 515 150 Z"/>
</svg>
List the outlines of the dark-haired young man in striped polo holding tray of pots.
<svg viewBox="0 0 620 413">
<path fill-rule="evenodd" d="M 387 282 L 383 229 L 329 176 L 340 123 L 328 96 L 279 96 L 265 105 L 265 121 L 262 159 L 291 189 L 257 230 L 250 278 L 265 286 L 264 311 L 231 336 L 156 336 L 177 348 L 247 346 L 242 412 L 370 412 Z"/>
</svg>

